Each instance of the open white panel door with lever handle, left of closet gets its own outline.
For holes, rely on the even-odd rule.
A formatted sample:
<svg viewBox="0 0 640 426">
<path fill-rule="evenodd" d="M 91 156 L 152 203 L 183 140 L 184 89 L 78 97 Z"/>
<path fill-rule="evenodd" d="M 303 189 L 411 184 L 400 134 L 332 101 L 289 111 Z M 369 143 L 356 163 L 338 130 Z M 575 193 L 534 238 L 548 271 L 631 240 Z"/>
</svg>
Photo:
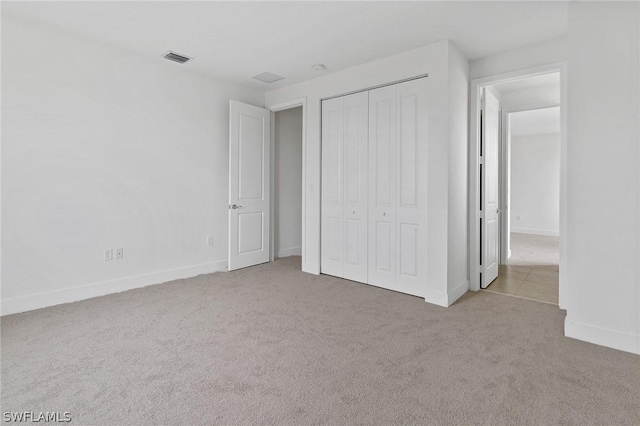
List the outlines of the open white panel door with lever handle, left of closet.
<svg viewBox="0 0 640 426">
<path fill-rule="evenodd" d="M 269 261 L 271 112 L 238 101 L 229 120 L 229 271 Z"/>
</svg>

